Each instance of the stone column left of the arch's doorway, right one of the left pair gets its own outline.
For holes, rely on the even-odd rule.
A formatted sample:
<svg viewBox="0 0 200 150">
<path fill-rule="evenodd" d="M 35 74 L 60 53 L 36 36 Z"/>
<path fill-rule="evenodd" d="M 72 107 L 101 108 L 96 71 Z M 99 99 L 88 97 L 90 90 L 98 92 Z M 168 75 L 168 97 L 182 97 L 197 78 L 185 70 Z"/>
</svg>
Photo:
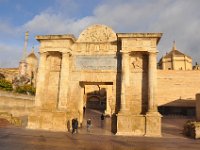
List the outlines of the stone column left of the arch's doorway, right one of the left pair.
<svg viewBox="0 0 200 150">
<path fill-rule="evenodd" d="M 67 106 L 69 91 L 69 57 L 70 53 L 62 53 L 58 109 L 66 109 Z"/>
</svg>

